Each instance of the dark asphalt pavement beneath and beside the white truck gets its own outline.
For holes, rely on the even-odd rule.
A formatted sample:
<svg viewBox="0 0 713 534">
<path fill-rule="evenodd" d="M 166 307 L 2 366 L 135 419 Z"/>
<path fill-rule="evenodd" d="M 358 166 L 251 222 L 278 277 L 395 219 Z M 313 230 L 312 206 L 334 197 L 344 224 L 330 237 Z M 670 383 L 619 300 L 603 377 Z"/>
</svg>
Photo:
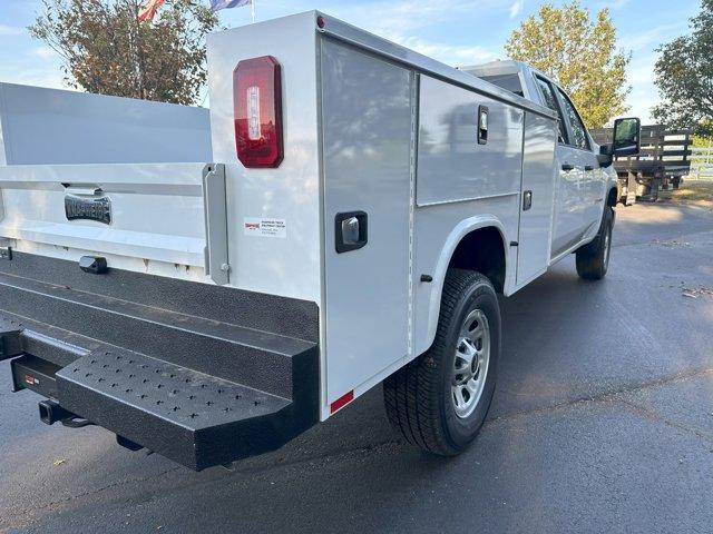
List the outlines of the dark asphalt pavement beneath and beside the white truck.
<svg viewBox="0 0 713 534">
<path fill-rule="evenodd" d="M 617 208 L 605 280 L 574 258 L 502 299 L 488 421 L 443 459 L 381 388 L 282 449 L 193 473 L 42 425 L 0 364 L 0 533 L 713 532 L 713 212 Z"/>
</svg>

